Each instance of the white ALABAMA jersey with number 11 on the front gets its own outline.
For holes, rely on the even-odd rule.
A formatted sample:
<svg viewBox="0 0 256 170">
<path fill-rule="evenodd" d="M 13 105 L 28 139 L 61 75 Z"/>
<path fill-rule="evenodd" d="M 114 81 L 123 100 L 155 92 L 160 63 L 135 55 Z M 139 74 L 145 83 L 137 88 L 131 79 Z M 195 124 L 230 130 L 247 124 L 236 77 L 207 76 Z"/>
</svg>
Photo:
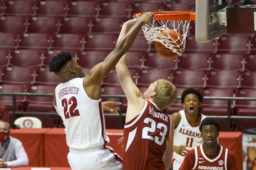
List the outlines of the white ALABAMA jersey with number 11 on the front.
<svg viewBox="0 0 256 170">
<path fill-rule="evenodd" d="M 180 110 L 180 123 L 177 128 L 174 130 L 173 145 L 187 145 L 187 149 L 191 150 L 194 147 L 201 145 L 203 139 L 201 132 L 199 130 L 199 125 L 206 116 L 201 114 L 201 121 L 197 126 L 191 126 L 187 121 L 185 110 Z M 173 158 L 180 164 L 183 162 L 184 156 L 178 155 L 176 152 L 173 152 Z"/>
</svg>

